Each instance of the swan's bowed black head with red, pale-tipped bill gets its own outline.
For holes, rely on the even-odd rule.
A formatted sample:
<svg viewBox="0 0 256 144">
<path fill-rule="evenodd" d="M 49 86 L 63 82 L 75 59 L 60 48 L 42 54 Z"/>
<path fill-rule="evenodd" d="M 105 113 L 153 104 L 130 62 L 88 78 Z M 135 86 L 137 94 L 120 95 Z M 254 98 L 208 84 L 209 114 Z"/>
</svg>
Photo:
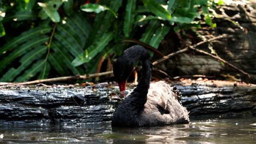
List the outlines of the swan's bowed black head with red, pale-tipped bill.
<svg viewBox="0 0 256 144">
<path fill-rule="evenodd" d="M 124 97 L 126 82 L 134 68 L 134 60 L 130 59 L 127 54 L 123 53 L 115 62 L 113 67 L 114 76 L 117 79 L 120 89 L 120 95 Z"/>
</svg>

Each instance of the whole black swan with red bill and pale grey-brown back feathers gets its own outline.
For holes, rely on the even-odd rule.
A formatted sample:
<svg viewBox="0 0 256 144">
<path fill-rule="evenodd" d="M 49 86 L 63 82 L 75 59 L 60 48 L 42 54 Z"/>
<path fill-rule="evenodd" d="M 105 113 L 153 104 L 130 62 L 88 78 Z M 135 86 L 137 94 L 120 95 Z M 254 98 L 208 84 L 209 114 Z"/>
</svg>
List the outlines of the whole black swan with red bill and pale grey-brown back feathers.
<svg viewBox="0 0 256 144">
<path fill-rule="evenodd" d="M 120 95 L 124 96 L 126 81 L 135 63 L 142 61 L 142 77 L 134 90 L 116 108 L 113 127 L 163 126 L 188 124 L 188 111 L 181 104 L 181 94 L 176 87 L 163 81 L 150 84 L 152 60 L 142 46 L 126 49 L 114 64 L 114 76 L 118 80 Z"/>
</svg>

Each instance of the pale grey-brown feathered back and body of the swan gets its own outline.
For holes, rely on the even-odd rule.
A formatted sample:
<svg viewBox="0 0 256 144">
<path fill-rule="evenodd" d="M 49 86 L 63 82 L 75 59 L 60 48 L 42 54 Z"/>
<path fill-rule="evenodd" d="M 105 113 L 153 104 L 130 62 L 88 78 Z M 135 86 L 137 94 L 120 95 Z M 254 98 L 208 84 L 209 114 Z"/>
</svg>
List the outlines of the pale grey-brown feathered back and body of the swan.
<svg viewBox="0 0 256 144">
<path fill-rule="evenodd" d="M 181 105 L 176 87 L 163 81 L 150 84 L 148 99 L 139 115 L 140 126 L 188 124 L 188 110 Z"/>
</svg>

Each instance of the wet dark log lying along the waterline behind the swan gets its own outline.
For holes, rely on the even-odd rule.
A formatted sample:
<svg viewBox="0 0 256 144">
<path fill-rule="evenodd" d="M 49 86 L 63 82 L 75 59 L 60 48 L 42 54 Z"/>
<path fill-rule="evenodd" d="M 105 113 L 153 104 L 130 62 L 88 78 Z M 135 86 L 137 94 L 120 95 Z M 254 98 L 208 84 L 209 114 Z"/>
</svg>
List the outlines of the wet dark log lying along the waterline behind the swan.
<svg viewBox="0 0 256 144">
<path fill-rule="evenodd" d="M 214 83 L 191 83 L 177 87 L 182 92 L 182 104 L 190 111 L 190 116 L 256 114 L 255 85 L 220 86 Z M 74 89 L 2 88 L 0 90 L 0 123 L 110 121 L 114 109 L 121 102 L 116 93 L 114 88 L 93 86 Z"/>
</svg>

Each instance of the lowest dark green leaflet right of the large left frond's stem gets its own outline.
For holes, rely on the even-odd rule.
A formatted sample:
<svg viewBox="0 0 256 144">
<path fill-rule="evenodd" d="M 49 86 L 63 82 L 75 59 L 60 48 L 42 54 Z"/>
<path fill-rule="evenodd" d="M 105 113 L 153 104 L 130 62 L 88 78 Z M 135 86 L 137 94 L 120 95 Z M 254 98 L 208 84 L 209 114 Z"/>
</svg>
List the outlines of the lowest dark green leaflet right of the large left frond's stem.
<svg viewBox="0 0 256 144">
<path fill-rule="evenodd" d="M 68 68 L 60 58 L 61 56 L 59 54 L 51 52 L 49 55 L 49 62 L 61 76 L 69 76 Z"/>
</svg>

